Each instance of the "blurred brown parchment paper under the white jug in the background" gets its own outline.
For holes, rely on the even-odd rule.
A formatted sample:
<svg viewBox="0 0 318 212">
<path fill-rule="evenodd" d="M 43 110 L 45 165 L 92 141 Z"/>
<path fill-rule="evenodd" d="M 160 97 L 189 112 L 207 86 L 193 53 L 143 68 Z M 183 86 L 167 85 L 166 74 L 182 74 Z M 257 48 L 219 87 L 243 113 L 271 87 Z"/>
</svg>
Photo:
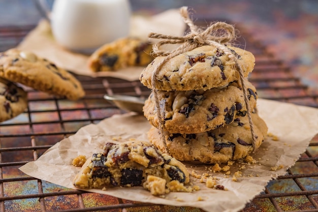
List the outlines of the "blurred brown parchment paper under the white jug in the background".
<svg viewBox="0 0 318 212">
<path fill-rule="evenodd" d="M 150 32 L 165 35 L 181 36 L 185 31 L 185 24 L 179 10 L 171 9 L 154 16 L 134 15 L 131 18 L 130 36 L 146 40 Z M 73 73 L 87 76 L 111 76 L 129 81 L 138 80 L 145 67 L 129 67 L 115 72 L 94 73 L 88 69 L 88 55 L 72 52 L 54 40 L 50 23 L 46 20 L 39 22 L 17 46 L 20 50 L 27 50 L 44 57 L 57 66 Z"/>
</svg>

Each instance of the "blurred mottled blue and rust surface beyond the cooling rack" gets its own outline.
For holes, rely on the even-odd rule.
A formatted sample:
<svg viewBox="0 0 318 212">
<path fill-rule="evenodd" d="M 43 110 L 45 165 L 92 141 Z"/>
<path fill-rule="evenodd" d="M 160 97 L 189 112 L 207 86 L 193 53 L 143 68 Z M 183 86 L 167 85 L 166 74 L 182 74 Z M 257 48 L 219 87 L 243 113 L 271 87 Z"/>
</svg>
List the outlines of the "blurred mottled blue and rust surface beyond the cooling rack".
<svg viewBox="0 0 318 212">
<path fill-rule="evenodd" d="M 52 1 L 48 1 L 49 3 Z M 131 0 L 134 12 L 154 14 L 193 8 L 195 18 L 242 23 L 302 82 L 318 94 L 318 1 L 315 0 Z M 34 1 L 0 0 L 1 25 L 30 25 L 41 19 Z M 246 44 L 248 45 L 248 43 Z"/>
</svg>

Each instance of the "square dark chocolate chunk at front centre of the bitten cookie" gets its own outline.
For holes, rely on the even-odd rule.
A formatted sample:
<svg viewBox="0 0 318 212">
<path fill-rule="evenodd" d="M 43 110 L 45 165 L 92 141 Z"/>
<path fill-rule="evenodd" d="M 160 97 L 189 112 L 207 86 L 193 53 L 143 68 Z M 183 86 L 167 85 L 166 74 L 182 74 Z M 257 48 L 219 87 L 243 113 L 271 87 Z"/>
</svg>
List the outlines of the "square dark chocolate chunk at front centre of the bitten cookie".
<svg viewBox="0 0 318 212">
<path fill-rule="evenodd" d="M 122 186 L 141 186 L 143 180 L 143 171 L 139 169 L 123 169 L 121 170 L 120 184 Z"/>
</svg>

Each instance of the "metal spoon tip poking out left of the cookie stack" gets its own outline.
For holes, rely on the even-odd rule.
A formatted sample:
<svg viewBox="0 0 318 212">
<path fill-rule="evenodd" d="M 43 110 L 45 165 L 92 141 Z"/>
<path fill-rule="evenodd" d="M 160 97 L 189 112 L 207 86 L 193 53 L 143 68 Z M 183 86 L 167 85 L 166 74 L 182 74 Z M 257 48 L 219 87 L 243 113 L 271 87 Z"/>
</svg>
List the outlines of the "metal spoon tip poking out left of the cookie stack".
<svg viewBox="0 0 318 212">
<path fill-rule="evenodd" d="M 142 107 L 145 100 L 125 95 L 104 95 L 104 99 L 115 104 L 118 108 L 143 114 Z"/>
</svg>

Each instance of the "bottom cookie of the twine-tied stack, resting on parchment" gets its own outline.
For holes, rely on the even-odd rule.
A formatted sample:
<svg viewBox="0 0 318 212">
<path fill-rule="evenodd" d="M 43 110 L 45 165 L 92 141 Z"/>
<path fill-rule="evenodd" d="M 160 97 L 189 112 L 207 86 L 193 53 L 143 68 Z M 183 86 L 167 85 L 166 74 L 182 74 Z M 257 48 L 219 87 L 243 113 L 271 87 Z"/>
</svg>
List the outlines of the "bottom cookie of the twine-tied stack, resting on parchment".
<svg viewBox="0 0 318 212">
<path fill-rule="evenodd" d="M 255 130 L 256 147 L 259 147 L 267 135 L 264 120 L 252 113 Z M 164 150 L 162 136 L 158 129 L 152 127 L 148 132 L 151 143 Z M 248 117 L 236 117 L 234 122 L 215 130 L 180 134 L 166 132 L 169 154 L 180 161 L 200 161 L 202 163 L 226 163 L 246 157 L 252 152 L 252 136 Z"/>
</svg>

